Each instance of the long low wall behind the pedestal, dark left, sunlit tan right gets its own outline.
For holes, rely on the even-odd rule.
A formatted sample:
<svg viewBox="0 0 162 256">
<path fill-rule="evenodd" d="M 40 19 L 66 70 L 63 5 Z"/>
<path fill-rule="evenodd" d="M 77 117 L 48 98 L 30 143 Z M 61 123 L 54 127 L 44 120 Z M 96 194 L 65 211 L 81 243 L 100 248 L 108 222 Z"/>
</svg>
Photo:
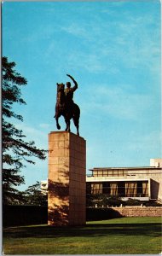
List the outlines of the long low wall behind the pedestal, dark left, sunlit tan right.
<svg viewBox="0 0 162 256">
<path fill-rule="evenodd" d="M 3 226 L 47 224 L 48 207 L 3 206 Z M 86 220 L 122 217 L 160 217 L 162 207 L 97 207 L 86 208 Z"/>
</svg>

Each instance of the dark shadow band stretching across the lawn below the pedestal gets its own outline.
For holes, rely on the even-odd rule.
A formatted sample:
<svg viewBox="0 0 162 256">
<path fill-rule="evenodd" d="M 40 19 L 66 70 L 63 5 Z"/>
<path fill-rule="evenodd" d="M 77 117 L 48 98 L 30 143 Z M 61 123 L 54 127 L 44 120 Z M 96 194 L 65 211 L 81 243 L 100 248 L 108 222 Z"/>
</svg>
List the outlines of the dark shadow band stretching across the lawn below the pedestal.
<svg viewBox="0 0 162 256">
<path fill-rule="evenodd" d="M 28 226 L 3 230 L 4 237 L 55 238 L 71 236 L 161 236 L 161 223 L 149 224 L 87 224 L 75 227 Z"/>
</svg>

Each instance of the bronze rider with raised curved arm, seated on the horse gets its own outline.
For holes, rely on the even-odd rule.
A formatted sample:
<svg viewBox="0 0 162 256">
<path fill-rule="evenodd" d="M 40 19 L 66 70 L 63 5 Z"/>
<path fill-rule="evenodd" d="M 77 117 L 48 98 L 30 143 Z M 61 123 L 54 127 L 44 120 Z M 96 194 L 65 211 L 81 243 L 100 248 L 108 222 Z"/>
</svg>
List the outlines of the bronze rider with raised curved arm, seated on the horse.
<svg viewBox="0 0 162 256">
<path fill-rule="evenodd" d="M 72 79 L 74 86 L 71 87 L 71 83 L 67 82 L 67 88 L 65 89 L 66 101 L 67 101 L 67 108 L 72 108 L 73 102 L 73 92 L 78 89 L 78 84 L 75 79 L 72 78 L 71 75 L 67 74 L 67 76 Z"/>
</svg>

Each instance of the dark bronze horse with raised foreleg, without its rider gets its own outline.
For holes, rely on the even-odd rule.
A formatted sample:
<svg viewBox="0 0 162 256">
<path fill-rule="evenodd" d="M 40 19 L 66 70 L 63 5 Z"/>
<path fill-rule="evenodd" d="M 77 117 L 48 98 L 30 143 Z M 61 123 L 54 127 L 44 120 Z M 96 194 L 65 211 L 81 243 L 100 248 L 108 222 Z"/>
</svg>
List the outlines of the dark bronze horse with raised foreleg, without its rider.
<svg viewBox="0 0 162 256">
<path fill-rule="evenodd" d="M 55 120 L 57 129 L 61 129 L 61 125 L 59 125 L 59 118 L 63 116 L 65 122 L 67 124 L 65 131 L 70 131 L 70 121 L 73 120 L 74 125 L 77 128 L 77 134 L 79 135 L 78 127 L 79 127 L 79 117 L 80 117 L 80 109 L 78 105 L 74 102 L 68 102 L 67 96 L 65 94 L 65 84 L 57 83 L 57 101 L 55 104 Z"/>
</svg>

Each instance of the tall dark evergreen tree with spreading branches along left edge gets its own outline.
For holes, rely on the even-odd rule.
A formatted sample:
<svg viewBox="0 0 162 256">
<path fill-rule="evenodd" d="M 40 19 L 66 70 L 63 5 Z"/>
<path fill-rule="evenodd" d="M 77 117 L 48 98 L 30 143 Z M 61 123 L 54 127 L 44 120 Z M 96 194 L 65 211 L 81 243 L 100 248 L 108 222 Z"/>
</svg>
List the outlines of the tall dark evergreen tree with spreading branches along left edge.
<svg viewBox="0 0 162 256">
<path fill-rule="evenodd" d="M 2 86 L 2 113 L 3 113 L 3 203 L 9 204 L 20 200 L 21 194 L 16 186 L 25 182 L 20 171 L 25 163 L 35 164 L 32 157 L 45 159 L 46 150 L 39 149 L 34 142 L 26 142 L 23 131 L 16 128 L 14 119 L 23 121 L 21 115 L 14 113 L 14 103 L 26 104 L 21 98 L 20 86 L 26 85 L 25 78 L 14 70 L 15 63 L 9 62 L 7 57 L 2 58 L 3 86 Z"/>
</svg>

